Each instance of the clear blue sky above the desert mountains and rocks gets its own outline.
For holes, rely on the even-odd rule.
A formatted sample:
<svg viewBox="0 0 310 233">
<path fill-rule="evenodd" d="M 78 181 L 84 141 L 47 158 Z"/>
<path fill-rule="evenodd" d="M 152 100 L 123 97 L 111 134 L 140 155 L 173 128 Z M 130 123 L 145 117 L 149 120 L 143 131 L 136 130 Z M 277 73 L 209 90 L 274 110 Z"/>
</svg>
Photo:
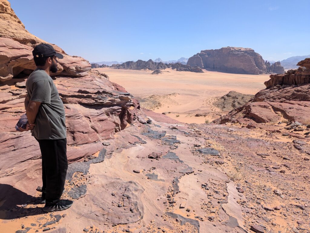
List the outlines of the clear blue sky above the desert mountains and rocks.
<svg viewBox="0 0 310 233">
<path fill-rule="evenodd" d="M 26 29 L 90 62 L 174 60 L 252 48 L 264 59 L 310 54 L 309 0 L 11 0 Z"/>
</svg>

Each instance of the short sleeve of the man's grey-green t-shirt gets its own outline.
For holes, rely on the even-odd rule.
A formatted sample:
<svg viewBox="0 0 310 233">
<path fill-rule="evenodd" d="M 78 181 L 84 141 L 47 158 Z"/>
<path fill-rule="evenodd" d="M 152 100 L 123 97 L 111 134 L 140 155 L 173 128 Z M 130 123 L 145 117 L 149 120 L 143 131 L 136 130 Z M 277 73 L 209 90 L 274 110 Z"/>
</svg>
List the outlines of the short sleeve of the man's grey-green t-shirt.
<svg viewBox="0 0 310 233">
<path fill-rule="evenodd" d="M 48 80 L 40 80 L 33 84 L 30 101 L 51 103 L 51 84 Z"/>
</svg>

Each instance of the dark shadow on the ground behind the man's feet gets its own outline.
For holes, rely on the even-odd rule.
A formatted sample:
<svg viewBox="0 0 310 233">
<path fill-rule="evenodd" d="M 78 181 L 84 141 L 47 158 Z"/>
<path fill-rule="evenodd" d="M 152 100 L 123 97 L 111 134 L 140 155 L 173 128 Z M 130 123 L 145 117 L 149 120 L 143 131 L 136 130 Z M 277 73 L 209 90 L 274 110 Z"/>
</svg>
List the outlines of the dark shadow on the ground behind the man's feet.
<svg viewBox="0 0 310 233">
<path fill-rule="evenodd" d="M 14 219 L 45 214 L 42 208 L 39 207 L 23 208 L 17 206 L 26 203 L 31 205 L 40 204 L 38 199 L 38 197 L 30 196 L 9 184 L 0 183 L 0 219 Z"/>
</svg>

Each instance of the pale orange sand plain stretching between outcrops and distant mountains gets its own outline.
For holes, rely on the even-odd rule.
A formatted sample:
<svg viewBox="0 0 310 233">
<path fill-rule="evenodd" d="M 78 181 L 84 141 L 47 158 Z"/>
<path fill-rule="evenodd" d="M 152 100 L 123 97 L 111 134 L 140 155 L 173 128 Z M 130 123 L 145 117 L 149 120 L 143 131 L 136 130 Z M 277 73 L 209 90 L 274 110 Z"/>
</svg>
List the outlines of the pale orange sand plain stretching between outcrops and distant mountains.
<svg viewBox="0 0 310 233">
<path fill-rule="evenodd" d="M 134 97 L 143 100 L 152 95 L 159 95 L 157 101 L 161 106 L 149 108 L 157 113 L 170 112 L 167 115 L 184 123 L 205 123 L 223 115 L 219 108 L 213 105 L 217 97 L 229 91 L 255 95 L 266 88 L 264 81 L 269 80 L 269 74 L 243 75 L 228 74 L 216 71 L 194 73 L 176 71 L 171 68 L 162 70 L 159 75 L 152 75 L 149 70 L 121 70 L 113 68 L 97 68 L 106 73 L 110 81 L 120 84 Z M 197 113 L 206 116 L 195 117 Z M 178 115 L 178 117 L 176 117 Z"/>
</svg>

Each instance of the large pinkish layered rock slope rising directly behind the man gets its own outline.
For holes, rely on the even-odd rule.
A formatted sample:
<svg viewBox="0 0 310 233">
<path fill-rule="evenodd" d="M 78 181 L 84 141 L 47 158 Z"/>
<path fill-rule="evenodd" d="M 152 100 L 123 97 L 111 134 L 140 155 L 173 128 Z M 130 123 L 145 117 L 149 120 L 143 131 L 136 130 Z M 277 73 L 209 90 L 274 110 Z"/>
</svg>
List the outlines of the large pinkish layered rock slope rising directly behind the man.
<svg viewBox="0 0 310 233">
<path fill-rule="evenodd" d="M 25 167 L 31 173 L 41 169 L 35 162 L 40 158 L 37 141 L 29 132 L 16 132 L 15 124 L 25 112 L 25 81 L 36 68 L 33 47 L 47 42 L 25 30 L 6 0 L 0 1 L 0 25 L 0 178 L 1 183 L 18 185 L 30 179 L 22 173 Z M 53 46 L 64 55 L 53 78 L 64 102 L 72 162 L 100 151 L 102 140 L 114 138 L 115 132 L 132 123 L 139 103 L 107 75 L 91 71 L 85 59 Z"/>
</svg>

